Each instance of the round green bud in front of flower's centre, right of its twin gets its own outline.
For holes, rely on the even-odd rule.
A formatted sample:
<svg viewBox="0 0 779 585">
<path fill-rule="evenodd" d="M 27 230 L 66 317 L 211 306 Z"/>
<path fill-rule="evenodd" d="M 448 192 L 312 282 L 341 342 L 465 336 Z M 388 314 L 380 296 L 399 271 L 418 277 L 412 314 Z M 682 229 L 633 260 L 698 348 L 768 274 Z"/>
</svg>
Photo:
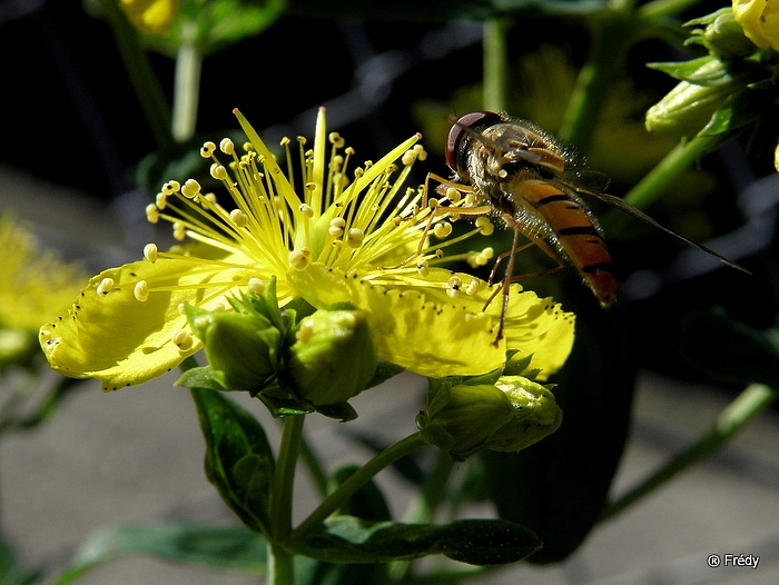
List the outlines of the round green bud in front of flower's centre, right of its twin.
<svg viewBox="0 0 779 585">
<path fill-rule="evenodd" d="M 300 321 L 285 369 L 299 398 L 334 405 L 365 389 L 377 357 L 363 311 L 318 310 Z"/>
</svg>

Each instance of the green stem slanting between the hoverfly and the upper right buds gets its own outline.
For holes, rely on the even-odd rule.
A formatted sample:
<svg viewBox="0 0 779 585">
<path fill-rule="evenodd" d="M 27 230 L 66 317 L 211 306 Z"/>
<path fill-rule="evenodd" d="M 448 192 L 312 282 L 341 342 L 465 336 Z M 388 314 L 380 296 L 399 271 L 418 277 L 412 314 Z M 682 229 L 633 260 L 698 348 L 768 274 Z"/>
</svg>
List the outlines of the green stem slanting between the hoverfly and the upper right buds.
<svg viewBox="0 0 779 585">
<path fill-rule="evenodd" d="M 696 159 L 716 148 L 717 136 L 698 136 L 677 145 L 658 165 L 647 173 L 625 196 L 624 200 L 639 209 L 652 205 Z"/>
</svg>

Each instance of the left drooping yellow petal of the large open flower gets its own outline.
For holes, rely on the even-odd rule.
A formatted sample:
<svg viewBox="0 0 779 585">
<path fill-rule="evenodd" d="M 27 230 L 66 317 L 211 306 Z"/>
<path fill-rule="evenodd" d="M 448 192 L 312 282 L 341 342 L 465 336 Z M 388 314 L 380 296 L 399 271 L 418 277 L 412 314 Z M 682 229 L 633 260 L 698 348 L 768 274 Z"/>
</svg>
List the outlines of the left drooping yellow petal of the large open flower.
<svg viewBox="0 0 779 585">
<path fill-rule="evenodd" d="M 188 331 L 179 305 L 220 303 L 229 285 L 201 285 L 229 284 L 243 276 L 240 269 L 205 266 L 210 270 L 188 259 L 159 258 L 100 272 L 70 309 L 41 327 L 39 338 L 51 367 L 75 378 L 97 378 L 103 390 L 141 384 L 176 367 L 200 347 L 195 337 L 191 346 L 172 343 L 176 331 Z M 100 287 L 106 279 L 112 287 Z M 155 289 L 142 303 L 135 296 L 139 280 Z M 209 292 L 211 297 L 206 296 Z"/>
</svg>

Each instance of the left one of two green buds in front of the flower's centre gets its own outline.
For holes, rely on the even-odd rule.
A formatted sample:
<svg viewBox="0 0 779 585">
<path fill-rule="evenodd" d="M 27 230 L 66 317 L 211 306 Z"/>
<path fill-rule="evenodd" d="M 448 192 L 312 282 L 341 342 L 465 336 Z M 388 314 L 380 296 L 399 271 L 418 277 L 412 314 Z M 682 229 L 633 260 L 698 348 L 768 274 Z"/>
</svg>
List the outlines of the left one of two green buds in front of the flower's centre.
<svg viewBox="0 0 779 585">
<path fill-rule="evenodd" d="M 188 307 L 189 323 L 204 343 L 214 379 L 228 390 L 263 386 L 278 366 L 282 334 L 258 314 Z"/>
</svg>

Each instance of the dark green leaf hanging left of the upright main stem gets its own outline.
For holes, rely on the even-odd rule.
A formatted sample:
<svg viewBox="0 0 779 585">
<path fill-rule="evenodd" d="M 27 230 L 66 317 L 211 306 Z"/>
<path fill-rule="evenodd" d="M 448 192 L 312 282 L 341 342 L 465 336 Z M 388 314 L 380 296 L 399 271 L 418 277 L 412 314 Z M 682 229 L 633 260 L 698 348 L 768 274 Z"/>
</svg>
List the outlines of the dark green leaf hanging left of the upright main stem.
<svg viewBox="0 0 779 585">
<path fill-rule="evenodd" d="M 267 489 L 274 456 L 254 416 L 224 394 L 193 388 L 200 429 L 206 439 L 206 476 L 227 506 L 249 528 L 268 525 Z"/>
</svg>

